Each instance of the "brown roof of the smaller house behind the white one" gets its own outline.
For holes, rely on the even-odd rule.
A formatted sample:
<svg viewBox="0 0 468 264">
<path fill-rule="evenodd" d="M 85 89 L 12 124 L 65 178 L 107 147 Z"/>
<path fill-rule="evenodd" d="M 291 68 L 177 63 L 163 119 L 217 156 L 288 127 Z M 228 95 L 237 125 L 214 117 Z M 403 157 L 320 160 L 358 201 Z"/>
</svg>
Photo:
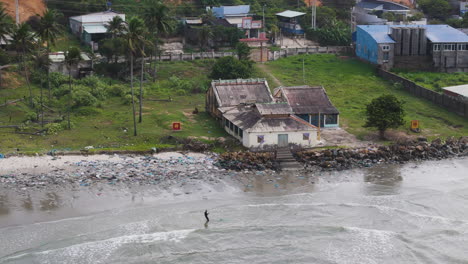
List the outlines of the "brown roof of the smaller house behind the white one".
<svg viewBox="0 0 468 264">
<path fill-rule="evenodd" d="M 278 93 L 281 92 L 281 93 Z M 294 114 L 339 114 L 323 87 L 293 86 L 280 87 L 275 96 L 282 96 Z"/>
</svg>

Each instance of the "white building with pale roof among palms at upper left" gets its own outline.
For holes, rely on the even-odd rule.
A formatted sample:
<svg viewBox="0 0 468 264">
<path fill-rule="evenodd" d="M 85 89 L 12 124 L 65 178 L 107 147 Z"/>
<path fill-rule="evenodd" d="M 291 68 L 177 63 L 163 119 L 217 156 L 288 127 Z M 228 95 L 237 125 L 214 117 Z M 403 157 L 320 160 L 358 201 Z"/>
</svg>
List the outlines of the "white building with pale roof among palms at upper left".
<svg viewBox="0 0 468 264">
<path fill-rule="evenodd" d="M 98 49 L 98 42 L 105 38 L 106 25 L 115 16 L 120 16 L 125 21 L 125 15 L 114 11 L 91 13 L 82 16 L 70 17 L 70 29 L 73 34 L 93 50 Z"/>
</svg>

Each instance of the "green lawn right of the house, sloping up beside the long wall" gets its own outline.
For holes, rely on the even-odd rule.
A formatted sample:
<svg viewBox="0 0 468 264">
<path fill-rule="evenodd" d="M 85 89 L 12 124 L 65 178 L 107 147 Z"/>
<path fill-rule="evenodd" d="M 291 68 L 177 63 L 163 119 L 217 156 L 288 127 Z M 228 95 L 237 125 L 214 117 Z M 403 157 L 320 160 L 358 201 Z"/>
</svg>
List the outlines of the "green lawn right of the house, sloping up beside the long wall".
<svg viewBox="0 0 468 264">
<path fill-rule="evenodd" d="M 360 139 L 369 136 L 375 138 L 375 131 L 363 128 L 364 111 L 366 104 L 382 94 L 393 94 L 405 102 L 407 125 L 398 131 L 413 134 L 409 130 L 409 122 L 416 119 L 420 121 L 422 136 L 436 138 L 468 135 L 468 120 L 429 101 L 412 96 L 398 85 L 376 76 L 372 66 L 356 59 L 342 59 L 330 54 L 294 56 L 268 62 L 265 67 L 284 85 L 303 85 L 303 58 L 306 69 L 305 83 L 325 87 L 333 104 L 341 112 L 341 127 Z"/>
</svg>

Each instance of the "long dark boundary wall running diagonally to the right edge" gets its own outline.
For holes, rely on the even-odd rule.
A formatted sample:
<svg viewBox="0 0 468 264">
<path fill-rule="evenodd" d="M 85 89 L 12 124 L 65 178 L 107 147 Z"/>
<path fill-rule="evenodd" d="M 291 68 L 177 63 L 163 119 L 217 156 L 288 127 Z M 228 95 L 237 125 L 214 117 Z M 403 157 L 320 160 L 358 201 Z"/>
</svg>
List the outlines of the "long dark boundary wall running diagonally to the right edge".
<svg viewBox="0 0 468 264">
<path fill-rule="evenodd" d="M 450 112 L 454 112 L 460 116 L 468 118 L 468 100 L 463 100 L 461 98 L 456 98 L 446 94 L 434 92 L 432 90 L 419 86 L 408 79 L 385 71 L 383 69 L 378 69 L 378 74 L 387 80 L 401 83 L 406 91 L 417 97 L 422 97 L 426 100 L 433 102 L 436 105 L 439 105 L 449 110 Z"/>
</svg>

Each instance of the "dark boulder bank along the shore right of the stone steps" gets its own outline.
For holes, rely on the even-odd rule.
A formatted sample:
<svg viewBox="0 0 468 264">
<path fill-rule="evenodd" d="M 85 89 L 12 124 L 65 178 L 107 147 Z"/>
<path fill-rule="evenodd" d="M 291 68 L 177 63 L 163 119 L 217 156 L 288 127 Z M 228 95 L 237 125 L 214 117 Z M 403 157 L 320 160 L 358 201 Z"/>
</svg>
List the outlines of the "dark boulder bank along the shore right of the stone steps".
<svg viewBox="0 0 468 264">
<path fill-rule="evenodd" d="M 344 170 L 370 167 L 378 163 L 403 163 L 415 160 L 468 156 L 468 137 L 396 143 L 390 146 L 369 146 L 355 149 L 305 150 L 295 153 L 297 160 L 309 169 Z"/>
</svg>

